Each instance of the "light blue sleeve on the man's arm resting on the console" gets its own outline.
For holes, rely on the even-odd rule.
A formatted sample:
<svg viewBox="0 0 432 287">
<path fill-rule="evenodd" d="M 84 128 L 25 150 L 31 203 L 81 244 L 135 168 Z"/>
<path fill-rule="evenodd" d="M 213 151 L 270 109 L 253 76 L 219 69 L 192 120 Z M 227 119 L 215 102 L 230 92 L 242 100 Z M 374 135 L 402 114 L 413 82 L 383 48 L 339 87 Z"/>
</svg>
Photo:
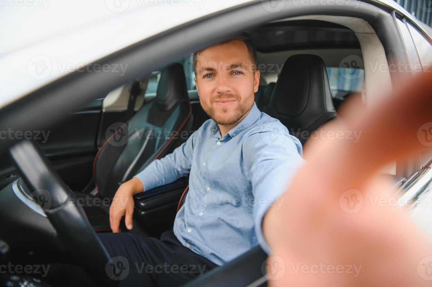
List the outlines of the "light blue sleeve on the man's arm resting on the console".
<svg viewBox="0 0 432 287">
<path fill-rule="evenodd" d="M 134 176 L 141 180 L 144 191 L 172 183 L 178 178 L 189 174 L 192 164 L 195 133 L 172 153 L 161 159 L 152 161 L 143 171 Z"/>
</svg>

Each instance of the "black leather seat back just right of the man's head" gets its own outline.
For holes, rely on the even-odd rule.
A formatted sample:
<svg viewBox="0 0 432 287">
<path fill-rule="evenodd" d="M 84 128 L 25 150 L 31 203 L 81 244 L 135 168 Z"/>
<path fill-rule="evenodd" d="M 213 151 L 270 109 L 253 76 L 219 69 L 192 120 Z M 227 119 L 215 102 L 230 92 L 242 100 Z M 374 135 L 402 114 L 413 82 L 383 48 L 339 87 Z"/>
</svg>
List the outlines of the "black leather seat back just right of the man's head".
<svg viewBox="0 0 432 287">
<path fill-rule="evenodd" d="M 280 120 L 302 144 L 311 132 L 337 117 L 321 57 L 299 54 L 286 60 L 267 114 Z"/>
</svg>

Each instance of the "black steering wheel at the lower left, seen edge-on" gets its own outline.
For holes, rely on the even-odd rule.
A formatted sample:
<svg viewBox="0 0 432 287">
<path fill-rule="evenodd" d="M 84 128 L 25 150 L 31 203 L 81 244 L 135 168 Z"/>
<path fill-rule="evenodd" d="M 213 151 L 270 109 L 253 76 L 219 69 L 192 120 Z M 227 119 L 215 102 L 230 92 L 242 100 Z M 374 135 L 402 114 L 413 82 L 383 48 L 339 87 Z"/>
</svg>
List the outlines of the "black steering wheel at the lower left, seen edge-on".
<svg viewBox="0 0 432 287">
<path fill-rule="evenodd" d="M 22 180 L 89 278 L 95 285 L 118 285 L 119 281 L 111 280 L 105 271 L 105 266 L 111 261 L 105 246 L 87 220 L 83 208 L 75 204 L 74 193 L 60 179 L 39 146 L 33 141 L 22 140 L 10 148 L 10 155 Z M 49 206 L 44 205 L 47 200 L 40 202 L 47 196 L 50 197 Z"/>
</svg>

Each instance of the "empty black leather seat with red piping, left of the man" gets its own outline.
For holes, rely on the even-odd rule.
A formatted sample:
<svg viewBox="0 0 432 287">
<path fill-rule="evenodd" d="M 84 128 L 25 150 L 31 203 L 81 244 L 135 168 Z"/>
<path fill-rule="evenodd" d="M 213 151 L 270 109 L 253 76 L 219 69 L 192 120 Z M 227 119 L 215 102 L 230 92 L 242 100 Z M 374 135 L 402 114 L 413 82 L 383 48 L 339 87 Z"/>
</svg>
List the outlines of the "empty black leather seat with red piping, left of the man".
<svg viewBox="0 0 432 287">
<path fill-rule="evenodd" d="M 99 149 L 93 162 L 93 178 L 98 196 L 111 199 L 121 183 L 130 180 L 157 158 L 162 158 L 186 141 L 180 132 L 192 123 L 183 66 L 174 63 L 162 70 L 156 97 L 145 103 L 117 134 L 129 133 L 127 142 L 118 144 L 111 137 Z M 127 133 L 126 133 L 127 134 Z M 121 141 L 123 142 L 123 141 Z M 76 193 L 77 196 L 84 196 Z M 89 196 L 89 195 L 87 195 Z M 109 227 L 107 206 L 84 206 L 95 229 Z"/>
</svg>

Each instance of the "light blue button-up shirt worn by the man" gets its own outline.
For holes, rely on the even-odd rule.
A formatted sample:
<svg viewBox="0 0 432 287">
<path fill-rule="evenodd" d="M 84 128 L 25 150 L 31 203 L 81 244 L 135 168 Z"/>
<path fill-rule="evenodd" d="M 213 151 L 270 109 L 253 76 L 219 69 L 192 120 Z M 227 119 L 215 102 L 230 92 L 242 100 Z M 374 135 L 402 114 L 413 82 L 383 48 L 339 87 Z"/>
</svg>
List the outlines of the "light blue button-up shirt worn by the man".
<svg viewBox="0 0 432 287">
<path fill-rule="evenodd" d="M 260 244 L 270 252 L 261 223 L 303 163 L 302 145 L 256 104 L 221 136 L 206 120 L 171 154 L 152 161 L 135 177 L 144 190 L 189 174 L 189 192 L 174 221 L 180 242 L 217 265 Z"/>
</svg>

